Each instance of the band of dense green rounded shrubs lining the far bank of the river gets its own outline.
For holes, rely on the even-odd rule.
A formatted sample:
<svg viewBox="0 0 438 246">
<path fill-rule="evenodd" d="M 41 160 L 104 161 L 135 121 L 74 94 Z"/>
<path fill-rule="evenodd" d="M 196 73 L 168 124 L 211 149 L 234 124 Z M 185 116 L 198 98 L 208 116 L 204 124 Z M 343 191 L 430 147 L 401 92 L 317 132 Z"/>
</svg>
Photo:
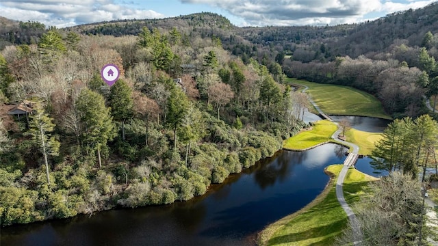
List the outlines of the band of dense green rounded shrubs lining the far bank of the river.
<svg viewBox="0 0 438 246">
<path fill-rule="evenodd" d="M 1 226 L 73 217 L 116 206 L 133 208 L 190 200 L 203 195 L 211 183 L 223 182 L 229 174 L 239 173 L 281 149 L 279 137 L 263 131 L 237 131 L 214 117 L 205 118 L 211 120 L 208 133 L 218 139 L 222 148 L 218 143 L 192 147 L 188 166 L 178 152 L 168 150 L 164 153 L 166 162 L 149 159 L 137 167 L 122 162 L 108 163 L 100 169 L 61 163 L 50 174 L 55 188 L 47 185 L 42 168 L 32 169 L 26 179 L 16 181 L 31 184 L 37 188 L 33 191 L 12 187 L 17 179 L 14 176 L 0 179 Z M 130 131 L 131 126 L 127 126 Z M 95 177 L 94 182 L 90 176 Z"/>
</svg>

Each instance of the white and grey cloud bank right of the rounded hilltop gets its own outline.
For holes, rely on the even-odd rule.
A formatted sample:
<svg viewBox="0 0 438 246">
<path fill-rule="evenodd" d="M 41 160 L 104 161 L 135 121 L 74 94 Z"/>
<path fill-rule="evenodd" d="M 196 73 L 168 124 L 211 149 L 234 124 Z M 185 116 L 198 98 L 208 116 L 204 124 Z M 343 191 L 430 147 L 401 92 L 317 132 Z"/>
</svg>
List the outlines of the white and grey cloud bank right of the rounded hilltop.
<svg viewBox="0 0 438 246">
<path fill-rule="evenodd" d="M 244 25 L 337 25 L 359 23 L 372 12 L 396 12 L 421 8 L 430 1 L 406 0 L 404 3 L 384 0 L 180 0 L 181 3 L 203 3 L 226 10 L 244 19 Z"/>
</svg>

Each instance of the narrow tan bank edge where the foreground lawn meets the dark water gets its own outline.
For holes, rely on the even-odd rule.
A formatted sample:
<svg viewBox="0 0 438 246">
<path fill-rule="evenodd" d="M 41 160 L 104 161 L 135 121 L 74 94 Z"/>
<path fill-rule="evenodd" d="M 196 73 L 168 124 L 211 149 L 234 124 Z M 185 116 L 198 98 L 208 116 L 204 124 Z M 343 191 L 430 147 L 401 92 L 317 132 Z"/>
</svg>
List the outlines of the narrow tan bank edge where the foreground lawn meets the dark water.
<svg viewBox="0 0 438 246">
<path fill-rule="evenodd" d="M 313 206 L 320 204 L 320 202 L 322 202 L 327 197 L 327 195 L 329 195 L 331 189 L 335 189 L 337 174 L 329 172 L 328 167 L 329 166 L 324 168 L 324 174 L 327 174 L 330 179 L 329 182 L 327 182 L 326 187 L 324 187 L 324 190 L 322 190 L 322 192 L 317 197 L 315 197 L 315 199 L 309 202 L 309 204 L 307 204 L 306 206 L 302 207 L 300 210 L 296 211 L 295 213 L 292 213 L 291 215 L 287 215 L 279 219 L 278 221 L 275 221 L 274 223 L 271 223 L 270 225 L 266 226 L 266 228 L 261 230 L 261 232 L 257 234 L 257 240 L 256 240 L 257 245 L 259 246 L 267 245 L 269 239 L 276 232 L 276 230 L 279 230 L 279 228 L 285 226 L 286 223 L 288 223 L 298 215 L 307 212 L 307 210 L 309 210 Z"/>
</svg>

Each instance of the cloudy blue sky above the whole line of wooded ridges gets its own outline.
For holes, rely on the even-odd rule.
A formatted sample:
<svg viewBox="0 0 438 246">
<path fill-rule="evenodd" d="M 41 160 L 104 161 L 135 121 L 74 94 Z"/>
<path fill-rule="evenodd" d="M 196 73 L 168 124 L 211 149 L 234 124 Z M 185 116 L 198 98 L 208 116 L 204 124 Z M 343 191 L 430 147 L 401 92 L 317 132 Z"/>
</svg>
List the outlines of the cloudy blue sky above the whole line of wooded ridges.
<svg viewBox="0 0 438 246">
<path fill-rule="evenodd" d="M 337 25 L 437 0 L 0 0 L 0 16 L 58 28 L 103 20 L 215 12 L 237 26 Z"/>
</svg>

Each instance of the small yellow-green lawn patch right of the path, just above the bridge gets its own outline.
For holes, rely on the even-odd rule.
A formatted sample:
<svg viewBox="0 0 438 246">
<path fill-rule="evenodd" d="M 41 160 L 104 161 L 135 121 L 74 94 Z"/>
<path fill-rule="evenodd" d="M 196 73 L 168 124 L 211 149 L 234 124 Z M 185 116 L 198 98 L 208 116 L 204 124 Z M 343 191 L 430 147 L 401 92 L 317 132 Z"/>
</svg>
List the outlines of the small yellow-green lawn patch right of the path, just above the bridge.
<svg viewBox="0 0 438 246">
<path fill-rule="evenodd" d="M 359 146 L 359 154 L 370 155 L 375 144 L 382 138 L 382 133 L 370 133 L 351 128 L 346 131 L 346 141 Z"/>
</svg>

